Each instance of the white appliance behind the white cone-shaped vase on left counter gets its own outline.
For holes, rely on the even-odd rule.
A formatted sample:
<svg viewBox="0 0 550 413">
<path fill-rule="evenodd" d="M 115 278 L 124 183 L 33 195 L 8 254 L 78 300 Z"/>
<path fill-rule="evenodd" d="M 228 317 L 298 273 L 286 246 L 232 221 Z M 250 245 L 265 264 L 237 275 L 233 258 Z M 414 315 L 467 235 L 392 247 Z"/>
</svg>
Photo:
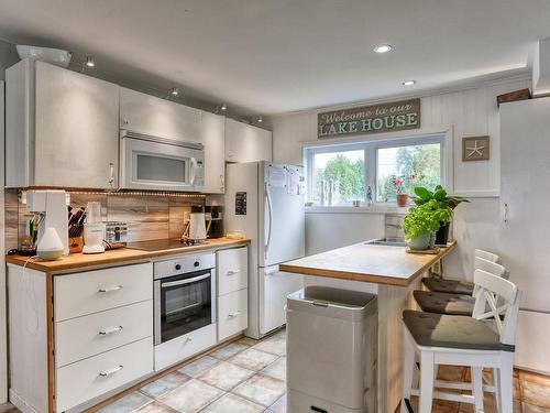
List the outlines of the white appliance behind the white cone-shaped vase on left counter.
<svg viewBox="0 0 550 413">
<path fill-rule="evenodd" d="M 38 235 L 36 244 L 40 246 L 46 230 L 55 231 L 63 246 L 63 254 L 68 254 L 68 222 L 67 222 L 67 204 L 65 191 L 28 191 L 26 192 L 26 210 L 29 213 L 38 214 L 41 225 L 38 226 Z M 48 243 L 52 247 L 53 233 L 48 236 Z M 45 247 L 43 246 L 43 249 Z"/>
</svg>

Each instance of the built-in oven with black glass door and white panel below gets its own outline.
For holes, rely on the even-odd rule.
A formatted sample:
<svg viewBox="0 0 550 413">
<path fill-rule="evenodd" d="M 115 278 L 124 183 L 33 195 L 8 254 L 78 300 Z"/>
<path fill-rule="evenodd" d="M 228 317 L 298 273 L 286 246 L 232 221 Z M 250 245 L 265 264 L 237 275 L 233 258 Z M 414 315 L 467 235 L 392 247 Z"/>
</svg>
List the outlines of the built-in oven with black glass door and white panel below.
<svg viewBox="0 0 550 413">
<path fill-rule="evenodd" d="M 153 264 L 155 371 L 216 345 L 216 254 Z"/>
</svg>

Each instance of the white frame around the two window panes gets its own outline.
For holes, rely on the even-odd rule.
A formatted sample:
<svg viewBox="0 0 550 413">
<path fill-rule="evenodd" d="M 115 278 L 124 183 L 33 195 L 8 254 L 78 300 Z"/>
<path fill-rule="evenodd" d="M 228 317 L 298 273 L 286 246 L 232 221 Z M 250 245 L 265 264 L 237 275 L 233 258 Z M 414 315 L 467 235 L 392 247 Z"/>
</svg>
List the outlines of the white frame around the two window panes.
<svg viewBox="0 0 550 413">
<path fill-rule="evenodd" d="M 441 185 L 449 188 L 450 185 L 450 173 L 448 171 L 449 163 L 449 131 L 432 132 L 432 133 L 421 133 L 415 135 L 400 135 L 387 139 L 376 139 L 376 140 L 355 140 L 348 142 L 338 142 L 334 140 L 328 141 L 327 143 L 315 143 L 304 145 L 304 164 L 306 166 L 306 202 L 314 202 L 310 198 L 312 194 L 312 165 L 314 155 L 317 153 L 330 153 L 330 152 L 344 152 L 344 151 L 364 151 L 365 161 L 365 193 L 363 195 L 362 202 L 366 202 L 366 188 L 371 186 L 373 192 L 373 203 L 376 205 L 387 206 L 395 204 L 394 202 L 378 202 L 378 150 L 385 148 L 400 148 L 400 146 L 415 146 L 422 144 L 435 144 L 439 143 L 440 148 L 440 173 L 441 173 Z M 450 188 L 452 191 L 452 188 Z M 327 207 L 345 207 L 351 206 L 351 203 L 341 203 L 338 205 L 327 206 Z"/>
</svg>

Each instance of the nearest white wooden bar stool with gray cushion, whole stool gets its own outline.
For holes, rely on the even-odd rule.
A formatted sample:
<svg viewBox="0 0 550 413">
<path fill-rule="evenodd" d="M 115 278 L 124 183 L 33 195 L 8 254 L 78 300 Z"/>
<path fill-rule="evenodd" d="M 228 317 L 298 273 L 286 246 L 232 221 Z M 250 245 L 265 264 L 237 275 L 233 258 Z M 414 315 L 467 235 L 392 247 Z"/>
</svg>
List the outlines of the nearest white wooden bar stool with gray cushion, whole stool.
<svg viewBox="0 0 550 413">
<path fill-rule="evenodd" d="M 512 282 L 483 270 L 475 270 L 474 282 L 476 291 L 472 317 L 410 309 L 403 313 L 405 366 L 402 413 L 406 413 L 407 409 L 411 411 L 411 395 L 420 398 L 419 413 L 431 413 L 432 399 L 472 403 L 477 412 L 483 411 L 484 367 L 494 369 L 498 412 L 513 413 L 513 362 L 521 294 Z M 504 304 L 499 305 L 501 302 Z M 492 322 L 487 323 L 487 319 Z M 413 389 L 416 354 L 420 359 L 419 389 Z M 472 394 L 435 391 L 438 365 L 471 367 Z"/>
</svg>

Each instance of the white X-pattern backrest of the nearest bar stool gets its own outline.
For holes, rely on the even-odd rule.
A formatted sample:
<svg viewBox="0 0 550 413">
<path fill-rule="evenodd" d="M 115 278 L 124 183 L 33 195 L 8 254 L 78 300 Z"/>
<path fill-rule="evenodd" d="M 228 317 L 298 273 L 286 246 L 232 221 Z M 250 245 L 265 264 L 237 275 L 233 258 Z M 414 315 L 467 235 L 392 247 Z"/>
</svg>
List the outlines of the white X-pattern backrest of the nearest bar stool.
<svg viewBox="0 0 550 413">
<path fill-rule="evenodd" d="M 475 305 L 472 317 L 493 319 L 501 343 L 514 345 L 521 292 L 508 280 L 483 270 L 475 270 L 474 283 L 477 289 L 474 293 Z"/>
</svg>

